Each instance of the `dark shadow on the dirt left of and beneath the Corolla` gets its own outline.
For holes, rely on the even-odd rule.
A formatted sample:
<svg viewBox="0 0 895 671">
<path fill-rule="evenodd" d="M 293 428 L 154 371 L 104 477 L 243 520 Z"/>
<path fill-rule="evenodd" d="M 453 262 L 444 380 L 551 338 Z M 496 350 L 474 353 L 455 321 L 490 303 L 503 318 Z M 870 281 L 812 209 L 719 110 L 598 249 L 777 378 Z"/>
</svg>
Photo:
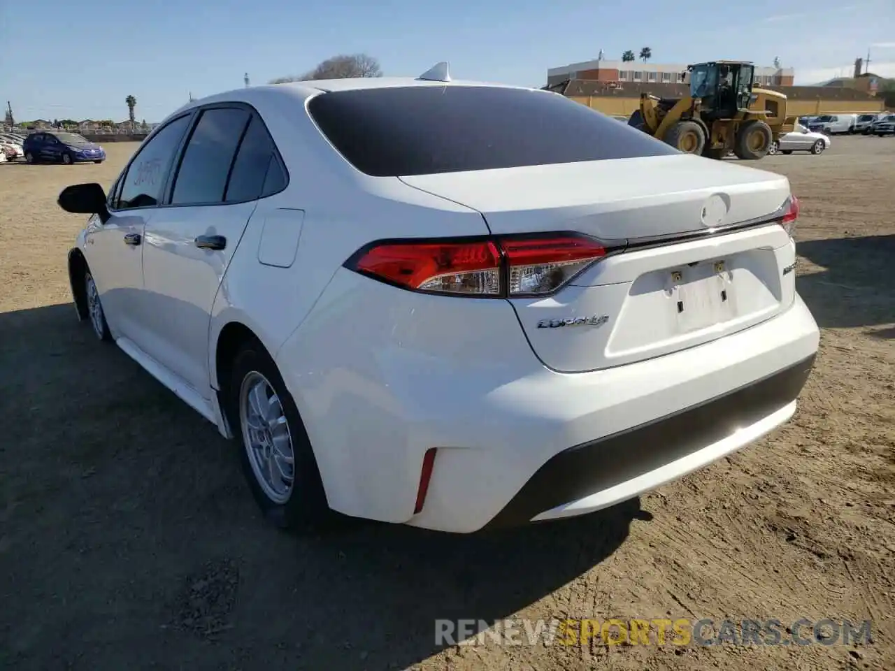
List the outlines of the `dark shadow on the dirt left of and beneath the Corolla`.
<svg viewBox="0 0 895 671">
<path fill-rule="evenodd" d="M 4 668 L 405 668 L 445 647 L 436 619 L 512 616 L 649 519 L 274 531 L 232 444 L 71 304 L 0 315 L 0 420 Z"/>
</svg>

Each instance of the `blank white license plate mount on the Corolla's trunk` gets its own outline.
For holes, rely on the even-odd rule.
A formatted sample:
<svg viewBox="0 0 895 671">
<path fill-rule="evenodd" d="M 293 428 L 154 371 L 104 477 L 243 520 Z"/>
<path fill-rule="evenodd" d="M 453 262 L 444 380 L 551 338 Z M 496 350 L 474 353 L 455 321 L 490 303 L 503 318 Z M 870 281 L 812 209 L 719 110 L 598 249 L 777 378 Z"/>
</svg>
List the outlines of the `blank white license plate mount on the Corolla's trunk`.
<svg viewBox="0 0 895 671">
<path fill-rule="evenodd" d="M 737 314 L 733 274 L 724 259 L 671 270 L 667 293 L 678 333 L 712 327 Z"/>
</svg>

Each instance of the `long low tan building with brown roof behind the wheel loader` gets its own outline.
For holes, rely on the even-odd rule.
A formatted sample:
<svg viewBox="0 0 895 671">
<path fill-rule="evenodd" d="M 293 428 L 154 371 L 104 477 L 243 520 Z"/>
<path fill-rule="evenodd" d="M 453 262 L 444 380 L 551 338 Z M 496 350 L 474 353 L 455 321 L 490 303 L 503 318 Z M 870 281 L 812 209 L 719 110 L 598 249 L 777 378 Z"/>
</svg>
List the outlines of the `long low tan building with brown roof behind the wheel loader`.
<svg viewBox="0 0 895 671">
<path fill-rule="evenodd" d="M 561 81 L 544 87 L 575 100 L 582 105 L 612 116 L 629 116 L 640 105 L 640 94 L 650 93 L 660 98 L 682 98 L 689 93 L 683 83 L 626 82 L 626 81 Z M 839 113 L 882 112 L 882 98 L 874 98 L 863 91 L 824 86 L 767 86 L 787 97 L 787 115 L 820 115 Z"/>
</svg>

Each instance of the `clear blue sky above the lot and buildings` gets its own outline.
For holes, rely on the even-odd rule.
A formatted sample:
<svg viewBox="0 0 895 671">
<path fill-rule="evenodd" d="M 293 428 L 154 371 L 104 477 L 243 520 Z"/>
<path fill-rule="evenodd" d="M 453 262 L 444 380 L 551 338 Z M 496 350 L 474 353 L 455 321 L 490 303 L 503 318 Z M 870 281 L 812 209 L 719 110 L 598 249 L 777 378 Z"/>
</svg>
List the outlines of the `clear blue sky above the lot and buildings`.
<svg viewBox="0 0 895 671">
<path fill-rule="evenodd" d="M 191 91 L 243 86 L 243 72 L 266 83 L 356 52 L 387 75 L 447 60 L 457 78 L 542 86 L 549 67 L 600 49 L 648 46 L 656 63 L 780 56 L 797 83 L 816 83 L 869 47 L 871 70 L 895 76 L 893 0 L 42 0 L 39 23 L 27 4 L 0 5 L 0 100 L 22 120 L 122 120 L 130 94 L 137 119 L 155 122 Z"/>
</svg>

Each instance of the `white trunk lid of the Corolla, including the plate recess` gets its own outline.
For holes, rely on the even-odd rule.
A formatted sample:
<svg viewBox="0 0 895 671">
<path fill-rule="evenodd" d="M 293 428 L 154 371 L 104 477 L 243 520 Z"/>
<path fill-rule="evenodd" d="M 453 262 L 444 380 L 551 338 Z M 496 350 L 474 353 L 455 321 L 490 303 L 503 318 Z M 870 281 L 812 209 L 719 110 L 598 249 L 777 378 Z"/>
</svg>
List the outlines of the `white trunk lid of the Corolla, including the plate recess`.
<svg viewBox="0 0 895 671">
<path fill-rule="evenodd" d="M 651 240 L 768 217 L 789 196 L 779 174 L 682 154 L 401 179 L 479 210 L 492 234 L 626 241 L 552 296 L 509 299 L 535 354 L 562 372 L 703 344 L 771 319 L 795 297 L 795 247 L 780 225 Z"/>
</svg>

